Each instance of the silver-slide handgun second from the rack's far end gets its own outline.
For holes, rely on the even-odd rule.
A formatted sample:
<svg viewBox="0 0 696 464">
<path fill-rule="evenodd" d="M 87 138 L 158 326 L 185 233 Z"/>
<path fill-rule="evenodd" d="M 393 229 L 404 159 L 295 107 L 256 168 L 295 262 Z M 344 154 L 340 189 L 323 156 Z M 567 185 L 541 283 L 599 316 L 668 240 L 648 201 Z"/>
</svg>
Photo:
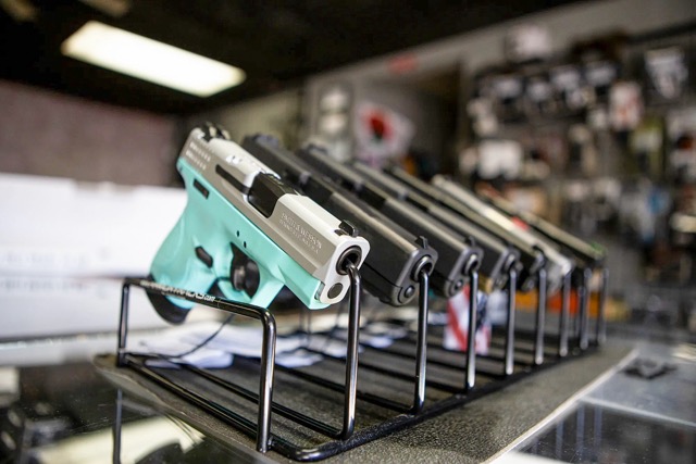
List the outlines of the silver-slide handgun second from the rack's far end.
<svg viewBox="0 0 696 464">
<path fill-rule="evenodd" d="M 523 229 L 461 185 L 443 175 L 434 176 L 431 183 L 442 193 L 438 196 L 438 200 L 520 249 L 522 253 L 521 260 L 526 271 L 520 276 L 523 281 L 522 289 L 525 289 L 524 279 L 535 279 L 539 265 L 544 265 L 546 268 L 547 289 L 549 292 L 557 291 L 563 281 L 563 277 L 575 267 L 574 261 L 561 253 L 549 240 L 533 231 Z M 538 258 L 539 254 L 543 256 L 542 259 Z"/>
</svg>

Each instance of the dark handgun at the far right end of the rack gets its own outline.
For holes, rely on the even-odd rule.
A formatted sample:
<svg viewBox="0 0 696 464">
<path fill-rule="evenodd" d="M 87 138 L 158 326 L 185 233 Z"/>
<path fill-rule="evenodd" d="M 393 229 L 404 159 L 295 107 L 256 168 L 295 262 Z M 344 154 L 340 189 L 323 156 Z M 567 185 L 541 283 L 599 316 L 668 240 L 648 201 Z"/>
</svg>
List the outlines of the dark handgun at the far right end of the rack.
<svg viewBox="0 0 696 464">
<path fill-rule="evenodd" d="M 480 193 L 480 197 L 507 216 L 522 222 L 522 224 L 558 244 L 561 251 L 571 254 L 575 259 L 579 267 L 597 268 L 604 264 L 607 255 L 599 244 L 588 243 L 536 214 L 517 208 L 499 195 L 484 190 Z"/>
</svg>

